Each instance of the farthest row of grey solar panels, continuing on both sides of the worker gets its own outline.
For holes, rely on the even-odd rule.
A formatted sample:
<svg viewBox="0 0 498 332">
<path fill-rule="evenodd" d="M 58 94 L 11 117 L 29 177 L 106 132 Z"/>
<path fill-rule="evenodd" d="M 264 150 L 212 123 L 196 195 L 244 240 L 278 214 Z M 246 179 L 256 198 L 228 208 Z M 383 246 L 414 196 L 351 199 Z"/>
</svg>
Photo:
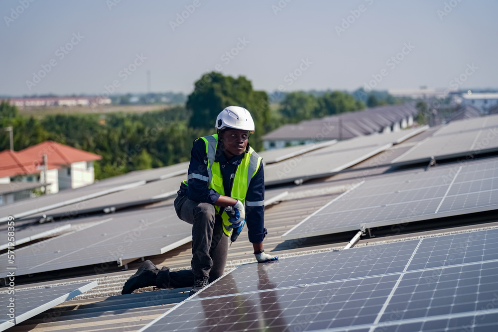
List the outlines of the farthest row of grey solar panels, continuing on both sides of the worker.
<svg viewBox="0 0 498 332">
<path fill-rule="evenodd" d="M 429 161 L 431 157 L 439 160 L 496 151 L 498 139 L 494 138 L 498 135 L 497 124 L 498 115 L 452 122 L 398 157 L 394 163 L 416 163 Z M 333 175 L 426 129 L 427 127 L 422 127 L 341 142 L 319 142 L 263 151 L 260 154 L 267 164 L 265 184 L 302 182 Z M 132 172 L 76 190 L 6 205 L 0 207 L 0 222 L 6 221 L 8 216 L 16 219 L 33 215 L 41 218 L 43 214 L 71 217 L 75 214 L 165 199 L 175 195 L 178 183 L 187 172 L 187 166 L 187 163 L 181 163 Z"/>
</svg>

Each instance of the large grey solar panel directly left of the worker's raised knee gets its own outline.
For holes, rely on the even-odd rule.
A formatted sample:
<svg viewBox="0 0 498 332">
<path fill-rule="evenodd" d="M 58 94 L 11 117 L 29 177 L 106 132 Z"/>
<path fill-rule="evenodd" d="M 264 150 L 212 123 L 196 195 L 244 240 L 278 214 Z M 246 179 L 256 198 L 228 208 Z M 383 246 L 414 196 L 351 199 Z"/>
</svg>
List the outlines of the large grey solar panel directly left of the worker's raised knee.
<svg viewBox="0 0 498 332">
<path fill-rule="evenodd" d="M 178 220 L 173 207 L 128 211 L 88 218 L 91 226 L 15 250 L 16 275 L 93 264 L 124 265 L 162 254 L 192 240 L 192 226 Z M 6 254 L 0 261 L 6 261 Z M 0 271 L 0 277 L 6 277 Z"/>
</svg>

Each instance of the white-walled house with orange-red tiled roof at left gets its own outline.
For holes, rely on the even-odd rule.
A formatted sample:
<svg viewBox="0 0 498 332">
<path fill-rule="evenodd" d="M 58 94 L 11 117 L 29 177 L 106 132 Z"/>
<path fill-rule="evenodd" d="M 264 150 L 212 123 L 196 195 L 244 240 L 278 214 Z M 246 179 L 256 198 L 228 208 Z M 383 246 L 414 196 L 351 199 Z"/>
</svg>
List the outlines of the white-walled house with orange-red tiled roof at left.
<svg viewBox="0 0 498 332">
<path fill-rule="evenodd" d="M 47 156 L 46 178 L 43 155 Z M 102 157 L 52 141 L 21 151 L 0 152 L 0 205 L 30 197 L 41 188 L 54 194 L 94 183 L 93 162 Z"/>
</svg>

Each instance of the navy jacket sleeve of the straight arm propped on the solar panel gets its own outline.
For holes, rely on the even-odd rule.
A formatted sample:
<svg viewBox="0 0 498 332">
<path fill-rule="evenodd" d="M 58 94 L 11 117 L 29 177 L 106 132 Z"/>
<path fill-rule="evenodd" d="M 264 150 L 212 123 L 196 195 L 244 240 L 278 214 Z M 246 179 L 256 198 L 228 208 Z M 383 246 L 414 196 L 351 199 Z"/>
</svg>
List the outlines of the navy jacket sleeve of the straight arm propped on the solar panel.
<svg viewBox="0 0 498 332">
<path fill-rule="evenodd" d="M 263 163 L 251 179 L 246 195 L 246 223 L 249 242 L 260 243 L 266 234 L 264 228 L 264 172 Z"/>
</svg>

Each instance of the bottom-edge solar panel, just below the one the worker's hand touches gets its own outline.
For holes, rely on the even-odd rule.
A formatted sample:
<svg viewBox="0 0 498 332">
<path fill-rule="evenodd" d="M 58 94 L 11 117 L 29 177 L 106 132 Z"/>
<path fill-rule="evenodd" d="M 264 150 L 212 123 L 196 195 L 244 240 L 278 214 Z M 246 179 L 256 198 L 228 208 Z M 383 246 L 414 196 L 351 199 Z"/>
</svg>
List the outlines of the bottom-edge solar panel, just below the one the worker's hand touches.
<svg viewBox="0 0 498 332">
<path fill-rule="evenodd" d="M 372 324 L 396 280 L 382 276 L 188 301 L 147 331 L 313 331 Z"/>
</svg>

